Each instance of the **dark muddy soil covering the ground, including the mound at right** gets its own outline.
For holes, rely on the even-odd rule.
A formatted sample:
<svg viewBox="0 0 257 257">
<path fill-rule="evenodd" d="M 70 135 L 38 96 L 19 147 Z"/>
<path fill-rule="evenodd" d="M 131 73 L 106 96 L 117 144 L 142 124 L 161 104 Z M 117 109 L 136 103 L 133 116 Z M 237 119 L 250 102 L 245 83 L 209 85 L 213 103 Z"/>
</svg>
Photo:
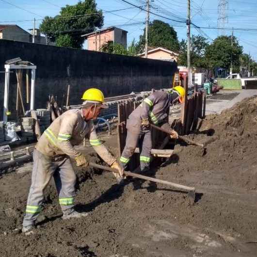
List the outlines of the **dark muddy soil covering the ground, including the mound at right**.
<svg viewBox="0 0 257 257">
<path fill-rule="evenodd" d="M 48 186 L 36 232 L 20 232 L 32 163 L 0 178 L 1 257 L 257 257 L 257 97 L 209 115 L 171 159 L 148 176 L 194 186 L 186 192 L 77 169 L 77 208 L 90 215 L 63 221 Z M 102 137 L 115 154 L 116 137 Z M 86 148 L 92 161 L 99 161 Z"/>
</svg>

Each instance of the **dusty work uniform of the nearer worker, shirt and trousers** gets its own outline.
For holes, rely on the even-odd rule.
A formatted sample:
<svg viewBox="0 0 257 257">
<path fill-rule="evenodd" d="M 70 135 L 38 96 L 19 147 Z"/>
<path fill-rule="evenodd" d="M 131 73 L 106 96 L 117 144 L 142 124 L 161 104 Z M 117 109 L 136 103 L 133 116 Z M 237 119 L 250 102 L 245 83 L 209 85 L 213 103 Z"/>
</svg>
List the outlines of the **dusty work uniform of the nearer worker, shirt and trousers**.
<svg viewBox="0 0 257 257">
<path fill-rule="evenodd" d="M 76 175 L 70 158 L 80 156 L 73 146 L 88 138 L 96 153 L 109 165 L 116 161 L 97 138 L 92 120 L 83 119 L 82 110 L 64 112 L 45 130 L 33 152 L 32 184 L 23 226 L 33 225 L 41 210 L 43 192 L 53 176 L 62 211 L 73 211 Z"/>
</svg>

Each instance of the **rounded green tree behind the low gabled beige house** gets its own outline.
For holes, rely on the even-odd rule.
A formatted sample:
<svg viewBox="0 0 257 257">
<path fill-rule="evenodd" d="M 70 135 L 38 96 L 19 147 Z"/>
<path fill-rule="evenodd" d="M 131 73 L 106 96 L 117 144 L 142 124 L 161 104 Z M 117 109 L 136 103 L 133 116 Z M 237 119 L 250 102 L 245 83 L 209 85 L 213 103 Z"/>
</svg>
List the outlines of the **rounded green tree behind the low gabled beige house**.
<svg viewBox="0 0 257 257">
<path fill-rule="evenodd" d="M 148 46 L 163 47 L 177 52 L 179 50 L 177 32 L 168 23 L 161 20 L 153 20 L 153 22 L 150 22 L 148 29 Z M 145 51 L 145 30 L 144 34 L 139 38 L 137 51 Z"/>
</svg>

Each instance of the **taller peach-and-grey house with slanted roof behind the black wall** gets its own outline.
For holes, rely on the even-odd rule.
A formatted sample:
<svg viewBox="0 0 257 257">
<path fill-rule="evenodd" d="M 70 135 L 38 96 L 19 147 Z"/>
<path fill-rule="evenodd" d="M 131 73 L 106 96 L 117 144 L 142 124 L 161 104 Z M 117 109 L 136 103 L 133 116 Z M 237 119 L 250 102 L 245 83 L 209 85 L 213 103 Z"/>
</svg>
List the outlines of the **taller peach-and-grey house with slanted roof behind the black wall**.
<svg viewBox="0 0 257 257">
<path fill-rule="evenodd" d="M 109 27 L 95 32 L 82 35 L 87 39 L 87 49 L 91 51 L 101 51 L 106 43 L 119 43 L 127 49 L 127 31 L 116 27 Z"/>
</svg>

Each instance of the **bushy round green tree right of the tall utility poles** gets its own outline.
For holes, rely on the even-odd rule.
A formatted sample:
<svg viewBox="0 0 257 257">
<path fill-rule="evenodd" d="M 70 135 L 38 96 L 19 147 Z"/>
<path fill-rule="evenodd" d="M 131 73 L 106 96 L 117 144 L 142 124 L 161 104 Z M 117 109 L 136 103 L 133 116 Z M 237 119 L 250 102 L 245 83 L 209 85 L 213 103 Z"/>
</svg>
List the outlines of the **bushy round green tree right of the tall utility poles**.
<svg viewBox="0 0 257 257">
<path fill-rule="evenodd" d="M 236 37 L 233 37 L 231 46 L 231 36 L 219 36 L 206 48 L 206 60 L 210 69 L 222 67 L 229 69 L 231 60 L 234 67 L 240 65 L 242 46 Z"/>
</svg>

